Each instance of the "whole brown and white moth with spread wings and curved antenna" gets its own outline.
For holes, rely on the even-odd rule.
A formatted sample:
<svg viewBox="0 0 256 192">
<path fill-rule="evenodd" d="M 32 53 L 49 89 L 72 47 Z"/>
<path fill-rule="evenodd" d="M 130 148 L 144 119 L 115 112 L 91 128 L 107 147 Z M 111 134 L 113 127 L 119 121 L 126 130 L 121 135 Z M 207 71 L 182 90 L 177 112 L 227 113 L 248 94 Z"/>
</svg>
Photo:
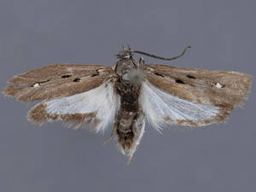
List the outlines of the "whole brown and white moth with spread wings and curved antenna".
<svg viewBox="0 0 256 192">
<path fill-rule="evenodd" d="M 158 131 L 223 122 L 250 90 L 252 76 L 245 73 L 146 64 L 142 57 L 138 62 L 133 58 L 141 54 L 171 61 L 186 49 L 164 58 L 123 48 L 112 67 L 57 63 L 15 76 L 4 94 L 24 102 L 43 100 L 27 115 L 39 125 L 61 120 L 75 129 L 90 125 L 96 132 L 112 126 L 108 141 L 116 135 L 130 162 L 145 122 Z"/>
</svg>

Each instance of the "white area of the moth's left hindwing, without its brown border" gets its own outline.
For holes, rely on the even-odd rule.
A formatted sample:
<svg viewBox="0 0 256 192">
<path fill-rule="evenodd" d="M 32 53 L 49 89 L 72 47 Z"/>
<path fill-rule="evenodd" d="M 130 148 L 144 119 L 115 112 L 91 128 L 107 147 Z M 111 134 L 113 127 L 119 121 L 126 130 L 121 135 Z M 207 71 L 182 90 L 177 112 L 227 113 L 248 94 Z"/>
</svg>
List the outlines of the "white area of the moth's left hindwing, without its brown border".
<svg viewBox="0 0 256 192">
<path fill-rule="evenodd" d="M 113 125 L 120 99 L 113 90 L 113 84 L 105 82 L 93 90 L 73 96 L 65 96 L 45 102 L 49 114 L 96 113 L 96 132 Z"/>
</svg>

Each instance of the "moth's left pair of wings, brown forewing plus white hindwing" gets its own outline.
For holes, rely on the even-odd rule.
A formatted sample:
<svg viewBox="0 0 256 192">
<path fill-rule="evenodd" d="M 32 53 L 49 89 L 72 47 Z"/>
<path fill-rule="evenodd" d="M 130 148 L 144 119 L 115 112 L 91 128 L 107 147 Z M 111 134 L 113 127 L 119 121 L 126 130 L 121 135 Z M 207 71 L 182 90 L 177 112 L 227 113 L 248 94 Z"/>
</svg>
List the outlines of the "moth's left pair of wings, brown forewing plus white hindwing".
<svg viewBox="0 0 256 192">
<path fill-rule="evenodd" d="M 119 108 L 113 73 L 100 65 L 54 64 L 15 76 L 4 93 L 25 102 L 44 100 L 27 115 L 34 123 L 61 120 L 75 128 L 90 123 L 102 131 Z"/>
</svg>

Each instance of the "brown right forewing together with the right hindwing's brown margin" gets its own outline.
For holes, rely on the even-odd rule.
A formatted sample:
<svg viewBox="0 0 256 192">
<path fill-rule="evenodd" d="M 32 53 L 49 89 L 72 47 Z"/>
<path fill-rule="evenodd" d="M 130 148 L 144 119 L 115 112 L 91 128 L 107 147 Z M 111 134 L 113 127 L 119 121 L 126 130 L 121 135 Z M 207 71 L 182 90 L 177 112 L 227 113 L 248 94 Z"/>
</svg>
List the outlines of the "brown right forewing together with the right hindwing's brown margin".
<svg viewBox="0 0 256 192">
<path fill-rule="evenodd" d="M 146 79 L 156 88 L 192 103 L 220 108 L 214 119 L 197 124 L 192 120 L 177 121 L 178 125 L 208 125 L 223 122 L 235 106 L 241 106 L 252 83 L 252 76 L 245 73 L 207 71 L 145 64 Z M 165 117 L 168 121 L 169 117 Z"/>
</svg>

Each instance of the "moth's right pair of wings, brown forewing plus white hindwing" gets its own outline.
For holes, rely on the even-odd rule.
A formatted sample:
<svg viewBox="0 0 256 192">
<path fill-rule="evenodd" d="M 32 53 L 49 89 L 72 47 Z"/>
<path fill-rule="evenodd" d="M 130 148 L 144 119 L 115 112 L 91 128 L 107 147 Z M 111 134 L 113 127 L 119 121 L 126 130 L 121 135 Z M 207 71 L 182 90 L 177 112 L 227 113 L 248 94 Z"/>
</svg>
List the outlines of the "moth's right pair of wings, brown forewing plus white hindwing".
<svg viewBox="0 0 256 192">
<path fill-rule="evenodd" d="M 148 86 L 159 89 L 153 91 L 155 98 L 159 98 L 158 101 L 148 102 L 154 108 L 162 108 L 159 109 L 162 113 L 157 113 L 157 117 L 151 119 L 156 125 L 170 122 L 177 125 L 200 126 L 223 122 L 235 106 L 241 106 L 252 83 L 252 76 L 236 72 L 169 67 L 160 64 L 145 64 L 143 71 Z M 170 110 L 163 111 L 165 106 Z"/>
</svg>

